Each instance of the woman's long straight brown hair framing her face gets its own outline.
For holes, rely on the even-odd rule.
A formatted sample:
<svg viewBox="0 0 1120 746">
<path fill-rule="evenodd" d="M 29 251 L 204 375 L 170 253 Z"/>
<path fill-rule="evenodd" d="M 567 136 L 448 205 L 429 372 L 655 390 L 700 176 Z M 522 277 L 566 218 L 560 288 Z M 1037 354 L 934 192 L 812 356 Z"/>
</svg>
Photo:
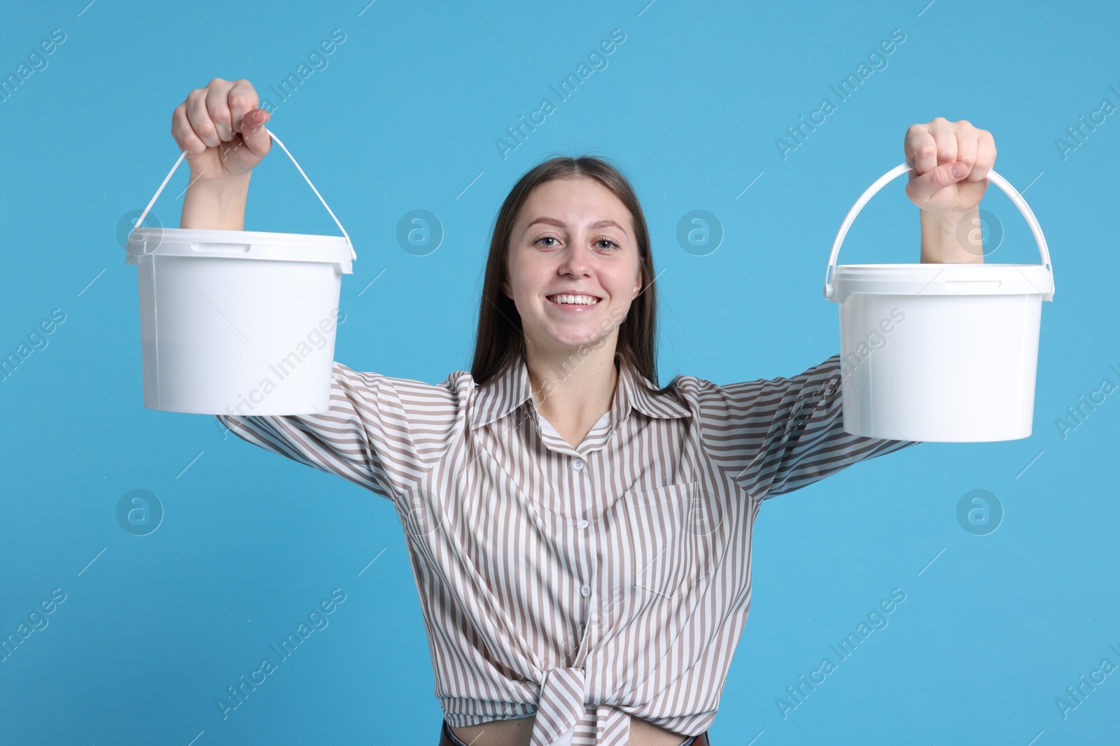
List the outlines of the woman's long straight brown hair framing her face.
<svg viewBox="0 0 1120 746">
<path fill-rule="evenodd" d="M 510 366 L 525 355 L 525 337 L 521 328 L 521 314 L 513 299 L 502 292 L 506 278 L 510 255 L 510 238 L 517 214 L 532 190 L 552 179 L 590 177 L 609 189 L 629 210 L 634 223 L 634 238 L 637 243 L 645 286 L 631 302 L 625 320 L 618 327 L 618 343 L 615 359 L 629 365 L 635 371 L 657 384 L 657 291 L 653 280 L 653 255 L 650 252 L 650 230 L 645 223 L 642 205 L 634 188 L 609 160 L 594 155 L 577 158 L 556 157 L 542 161 L 530 169 L 513 186 L 494 221 L 491 235 L 489 257 L 486 261 L 486 276 L 483 282 L 483 298 L 478 311 L 478 332 L 475 336 L 475 359 L 470 374 L 479 386 L 498 378 Z M 660 389 L 668 391 L 673 384 Z"/>
</svg>

